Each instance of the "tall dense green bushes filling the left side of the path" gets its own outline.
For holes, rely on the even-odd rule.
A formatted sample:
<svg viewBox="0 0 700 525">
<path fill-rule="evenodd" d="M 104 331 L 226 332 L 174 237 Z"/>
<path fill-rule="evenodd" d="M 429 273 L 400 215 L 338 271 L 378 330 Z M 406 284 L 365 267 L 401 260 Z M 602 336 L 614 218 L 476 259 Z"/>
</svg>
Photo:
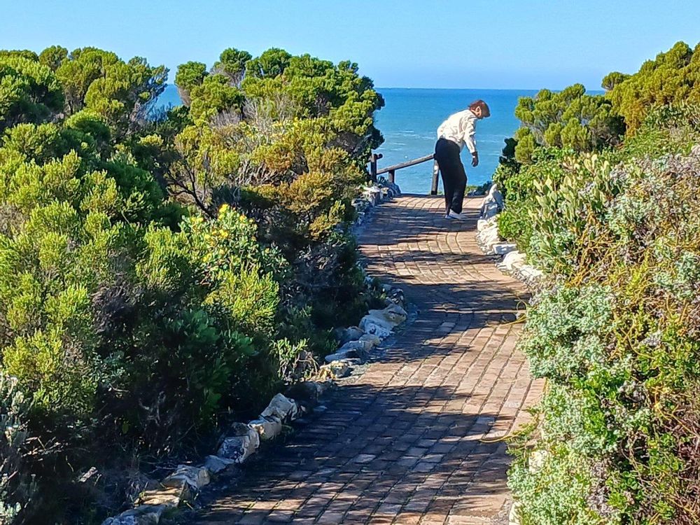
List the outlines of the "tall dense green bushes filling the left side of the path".
<svg viewBox="0 0 700 525">
<path fill-rule="evenodd" d="M 372 81 L 227 49 L 158 110 L 167 76 L 0 52 L 2 524 L 104 517 L 372 301 L 349 229 L 382 140 Z"/>
</svg>

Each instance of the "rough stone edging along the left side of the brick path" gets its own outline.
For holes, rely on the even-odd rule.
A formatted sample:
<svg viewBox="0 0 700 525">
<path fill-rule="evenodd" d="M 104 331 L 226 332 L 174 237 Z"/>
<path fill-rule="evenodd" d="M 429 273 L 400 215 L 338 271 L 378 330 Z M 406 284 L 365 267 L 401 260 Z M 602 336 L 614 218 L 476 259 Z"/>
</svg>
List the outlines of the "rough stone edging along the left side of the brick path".
<svg viewBox="0 0 700 525">
<path fill-rule="evenodd" d="M 384 179 L 365 187 L 362 197 L 352 203 L 357 211 L 354 226 L 357 228 L 365 222 L 373 207 L 396 195 L 401 195 L 400 188 Z M 371 287 L 373 282 L 373 279 L 365 276 L 367 287 Z M 315 377 L 288 388 L 287 393 L 293 392 L 297 400 L 277 393 L 258 419 L 248 423 L 232 423 L 215 455 L 207 456 L 198 466 L 178 465 L 162 479 L 160 488 L 142 492 L 132 509 L 105 519 L 102 525 L 157 525 L 166 510 L 193 500 L 202 487 L 211 482 L 213 475 L 231 465 L 244 463 L 258 451 L 261 440 L 274 440 L 282 432 L 284 423 L 312 412 L 318 398 L 337 379 L 349 375 L 353 366 L 363 363 L 370 351 L 391 336 L 396 326 L 406 321 L 408 314 L 403 291 L 388 285 L 382 288 L 386 294 L 386 307 L 370 310 L 359 326 L 337 331 L 340 346 L 335 353 L 325 356 L 326 364 L 318 369 Z"/>
</svg>

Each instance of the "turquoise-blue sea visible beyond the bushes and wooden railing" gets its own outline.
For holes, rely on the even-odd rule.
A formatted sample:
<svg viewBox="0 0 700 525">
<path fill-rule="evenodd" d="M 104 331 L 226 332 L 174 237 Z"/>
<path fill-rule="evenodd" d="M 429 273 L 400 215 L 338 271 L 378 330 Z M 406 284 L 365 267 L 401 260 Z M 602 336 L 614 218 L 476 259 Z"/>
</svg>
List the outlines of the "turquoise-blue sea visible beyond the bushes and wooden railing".
<svg viewBox="0 0 700 525">
<path fill-rule="evenodd" d="M 384 155 L 378 167 L 398 164 L 433 153 L 437 127 L 451 113 L 465 109 L 475 99 L 484 99 L 491 108 L 491 117 L 477 124 L 479 166 L 471 167 L 471 157 L 462 152 L 468 184 L 479 186 L 491 179 L 498 166 L 504 141 L 519 127 L 514 116 L 519 97 L 533 96 L 531 90 L 439 90 L 377 88 L 386 106 L 377 111 L 377 127 L 384 135 L 384 144 L 377 153 Z M 181 104 L 174 85 L 160 97 L 161 106 Z M 433 163 L 400 169 L 396 183 L 404 193 L 429 193 Z"/>
</svg>

